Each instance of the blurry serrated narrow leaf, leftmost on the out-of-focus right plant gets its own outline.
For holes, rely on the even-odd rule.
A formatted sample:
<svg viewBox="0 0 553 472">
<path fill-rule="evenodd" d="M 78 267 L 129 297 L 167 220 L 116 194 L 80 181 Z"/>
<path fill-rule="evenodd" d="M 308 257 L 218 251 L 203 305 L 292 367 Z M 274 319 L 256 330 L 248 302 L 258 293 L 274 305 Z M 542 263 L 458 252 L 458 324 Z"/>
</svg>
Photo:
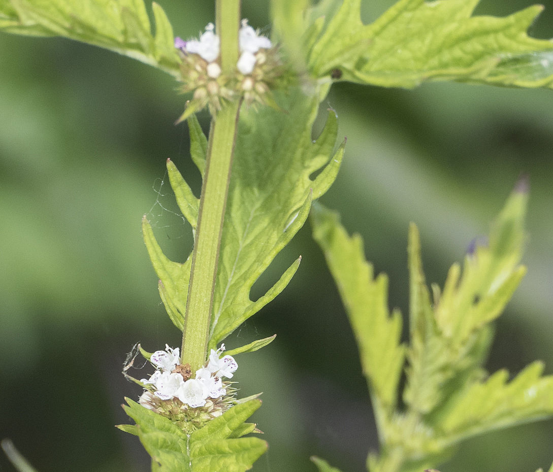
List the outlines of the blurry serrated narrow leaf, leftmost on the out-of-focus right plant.
<svg viewBox="0 0 553 472">
<path fill-rule="evenodd" d="M 388 278 L 374 276 L 361 237 L 349 237 L 337 213 L 316 204 L 311 221 L 357 340 L 379 426 L 385 427 L 382 421 L 392 415 L 397 403 L 405 350 L 400 344 L 401 315 L 394 311 L 390 316 L 388 311 Z"/>
</svg>

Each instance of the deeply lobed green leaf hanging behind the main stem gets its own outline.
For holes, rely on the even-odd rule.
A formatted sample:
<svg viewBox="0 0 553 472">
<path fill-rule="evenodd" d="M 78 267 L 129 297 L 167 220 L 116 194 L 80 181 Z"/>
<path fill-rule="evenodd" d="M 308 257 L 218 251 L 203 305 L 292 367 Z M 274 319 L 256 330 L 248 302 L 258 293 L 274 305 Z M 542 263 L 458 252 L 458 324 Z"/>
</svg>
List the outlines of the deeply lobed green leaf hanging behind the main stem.
<svg viewBox="0 0 553 472">
<path fill-rule="evenodd" d="M 265 295 L 255 301 L 249 297 L 254 282 L 304 224 L 312 199 L 327 191 L 341 164 L 345 143 L 335 151 L 335 112 L 329 111 L 326 125 L 314 141 L 311 128 L 319 96 L 295 90 L 279 101 L 286 113 L 268 107 L 241 112 L 213 295 L 211 349 L 216 349 L 228 334 L 288 285 L 301 258 Z M 188 120 L 192 159 L 203 173 L 207 139 L 197 119 L 192 115 Z M 194 229 L 197 199 L 170 161 L 168 172 L 179 207 Z M 191 258 L 184 264 L 167 259 L 146 221 L 143 233 L 161 280 L 160 295 L 175 326 L 180 328 L 184 323 Z M 244 348 L 259 349 L 268 340 Z"/>
</svg>

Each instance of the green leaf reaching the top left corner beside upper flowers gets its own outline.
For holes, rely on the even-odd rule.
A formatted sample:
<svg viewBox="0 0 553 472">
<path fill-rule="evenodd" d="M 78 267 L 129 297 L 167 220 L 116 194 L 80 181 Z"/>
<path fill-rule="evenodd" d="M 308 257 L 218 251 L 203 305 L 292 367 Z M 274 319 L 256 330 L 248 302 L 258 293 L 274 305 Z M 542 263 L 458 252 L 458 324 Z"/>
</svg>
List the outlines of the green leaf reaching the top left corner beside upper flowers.
<svg viewBox="0 0 553 472">
<path fill-rule="evenodd" d="M 143 0 L 1 0 L 0 30 L 65 36 L 115 51 L 180 77 L 173 28 L 153 4 L 155 37 Z"/>
</svg>

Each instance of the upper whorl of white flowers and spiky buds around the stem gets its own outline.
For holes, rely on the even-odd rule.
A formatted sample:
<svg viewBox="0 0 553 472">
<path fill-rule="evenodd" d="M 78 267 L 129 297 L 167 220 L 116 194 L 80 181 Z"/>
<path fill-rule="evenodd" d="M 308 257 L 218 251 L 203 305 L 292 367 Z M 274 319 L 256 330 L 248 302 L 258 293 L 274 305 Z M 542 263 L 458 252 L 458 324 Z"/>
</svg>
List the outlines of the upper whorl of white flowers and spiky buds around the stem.
<svg viewBox="0 0 553 472">
<path fill-rule="evenodd" d="M 206 26 L 199 39 L 175 38 L 175 48 L 182 59 L 181 90 L 183 93 L 194 91 L 179 122 L 205 106 L 213 114 L 221 108 L 222 101 L 237 97 L 243 97 L 249 104 L 272 104 L 269 90 L 281 74 L 281 66 L 271 41 L 259 35 L 244 19 L 238 45 L 240 55 L 236 71 L 225 75 L 221 71 L 220 38 L 212 23 Z"/>
</svg>

